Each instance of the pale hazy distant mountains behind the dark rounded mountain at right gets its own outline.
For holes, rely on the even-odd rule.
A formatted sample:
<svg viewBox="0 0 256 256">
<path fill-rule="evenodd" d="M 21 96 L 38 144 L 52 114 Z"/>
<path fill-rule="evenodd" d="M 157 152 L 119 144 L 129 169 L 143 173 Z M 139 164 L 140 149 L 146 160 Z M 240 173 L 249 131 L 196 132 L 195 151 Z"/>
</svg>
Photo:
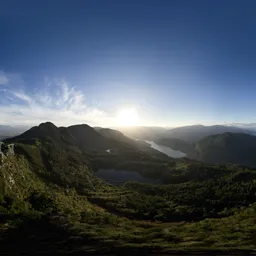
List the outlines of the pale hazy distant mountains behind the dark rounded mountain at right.
<svg viewBox="0 0 256 256">
<path fill-rule="evenodd" d="M 225 132 L 232 133 L 251 133 L 250 130 L 245 130 L 236 126 L 224 126 L 224 125 L 191 125 L 182 126 L 167 130 L 163 135 L 163 138 L 176 138 L 187 142 L 196 142 L 207 136 L 221 134 Z"/>
</svg>

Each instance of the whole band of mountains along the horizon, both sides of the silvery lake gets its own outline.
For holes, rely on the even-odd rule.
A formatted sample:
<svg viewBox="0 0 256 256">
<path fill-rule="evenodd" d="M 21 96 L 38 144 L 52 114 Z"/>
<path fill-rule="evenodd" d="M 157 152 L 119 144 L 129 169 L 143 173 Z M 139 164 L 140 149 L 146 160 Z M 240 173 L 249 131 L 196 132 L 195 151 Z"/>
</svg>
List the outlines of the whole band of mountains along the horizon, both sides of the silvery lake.
<svg viewBox="0 0 256 256">
<path fill-rule="evenodd" d="M 0 128 L 2 131 L 10 129 L 9 126 Z M 24 128 L 21 126 L 15 131 L 22 131 Z M 20 135 L 7 138 L 6 142 L 33 145 L 40 140 L 44 146 L 52 144 L 59 150 L 76 155 L 75 158 L 83 158 L 85 154 L 87 158 L 90 154 L 94 154 L 94 157 L 101 154 L 101 159 L 105 160 L 114 155 L 133 161 L 146 158 L 168 158 L 144 142 L 144 139 L 147 139 L 184 152 L 190 159 L 206 163 L 233 163 L 256 167 L 253 153 L 256 149 L 256 137 L 251 130 L 237 126 L 193 125 L 173 129 L 130 127 L 120 130 L 126 132 L 128 137 L 121 131 L 109 128 L 92 128 L 85 124 L 57 127 L 47 122 L 32 127 Z M 8 134 L 13 131 L 10 129 Z"/>
</svg>

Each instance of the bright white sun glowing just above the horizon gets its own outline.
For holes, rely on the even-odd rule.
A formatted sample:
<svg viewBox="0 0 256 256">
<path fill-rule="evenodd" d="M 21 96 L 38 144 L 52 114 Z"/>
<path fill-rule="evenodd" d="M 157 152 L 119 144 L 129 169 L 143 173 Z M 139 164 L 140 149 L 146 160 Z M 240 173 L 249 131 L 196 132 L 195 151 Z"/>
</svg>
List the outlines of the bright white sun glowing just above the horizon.
<svg viewBox="0 0 256 256">
<path fill-rule="evenodd" d="M 136 126 L 139 116 L 135 108 L 124 108 L 117 113 L 117 124 L 120 126 Z"/>
</svg>

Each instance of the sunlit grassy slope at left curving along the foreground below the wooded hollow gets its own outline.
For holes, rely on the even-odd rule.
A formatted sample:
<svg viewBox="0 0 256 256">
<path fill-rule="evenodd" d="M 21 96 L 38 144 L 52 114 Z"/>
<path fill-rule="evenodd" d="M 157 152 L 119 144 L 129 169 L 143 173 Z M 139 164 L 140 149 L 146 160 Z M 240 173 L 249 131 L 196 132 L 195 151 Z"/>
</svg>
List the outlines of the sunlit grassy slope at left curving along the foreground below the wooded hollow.
<svg viewBox="0 0 256 256">
<path fill-rule="evenodd" d="M 19 241 L 15 250 L 31 255 L 39 249 L 45 253 L 81 253 L 142 248 L 145 253 L 159 253 L 205 247 L 255 248 L 255 205 L 230 217 L 194 223 L 130 220 L 88 200 L 92 196 L 124 196 L 131 194 L 130 190 L 107 185 L 84 167 L 83 176 L 89 179 L 84 178 L 85 190 L 78 193 L 74 188 L 44 182 L 31 168 L 19 157 L 10 158 L 0 168 L 0 246 L 5 252 L 14 250 L 13 239 Z"/>
</svg>

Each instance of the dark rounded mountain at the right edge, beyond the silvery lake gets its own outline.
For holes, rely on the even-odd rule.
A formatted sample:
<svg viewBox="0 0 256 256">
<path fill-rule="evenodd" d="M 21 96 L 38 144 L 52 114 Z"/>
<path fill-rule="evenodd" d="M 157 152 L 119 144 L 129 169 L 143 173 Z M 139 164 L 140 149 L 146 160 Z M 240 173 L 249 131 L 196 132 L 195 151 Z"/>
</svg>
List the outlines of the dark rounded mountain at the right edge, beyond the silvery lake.
<svg viewBox="0 0 256 256">
<path fill-rule="evenodd" d="M 188 157 L 206 163 L 239 164 L 256 167 L 256 136 L 223 133 L 208 136 L 195 144 Z"/>
</svg>

